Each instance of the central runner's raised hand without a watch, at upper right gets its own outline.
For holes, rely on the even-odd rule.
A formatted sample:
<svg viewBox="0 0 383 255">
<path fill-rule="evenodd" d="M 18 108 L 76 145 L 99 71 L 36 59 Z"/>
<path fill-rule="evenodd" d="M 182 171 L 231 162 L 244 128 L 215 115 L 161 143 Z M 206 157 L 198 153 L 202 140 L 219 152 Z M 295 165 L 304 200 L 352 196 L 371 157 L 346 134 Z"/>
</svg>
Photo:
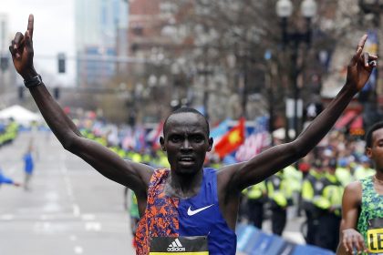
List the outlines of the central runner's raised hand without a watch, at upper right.
<svg viewBox="0 0 383 255">
<path fill-rule="evenodd" d="M 378 56 L 370 56 L 367 52 L 363 53 L 366 40 L 367 35 L 360 38 L 357 44 L 357 52 L 347 66 L 346 85 L 350 89 L 356 90 L 356 93 L 365 86 L 372 69 L 377 66 Z"/>
</svg>

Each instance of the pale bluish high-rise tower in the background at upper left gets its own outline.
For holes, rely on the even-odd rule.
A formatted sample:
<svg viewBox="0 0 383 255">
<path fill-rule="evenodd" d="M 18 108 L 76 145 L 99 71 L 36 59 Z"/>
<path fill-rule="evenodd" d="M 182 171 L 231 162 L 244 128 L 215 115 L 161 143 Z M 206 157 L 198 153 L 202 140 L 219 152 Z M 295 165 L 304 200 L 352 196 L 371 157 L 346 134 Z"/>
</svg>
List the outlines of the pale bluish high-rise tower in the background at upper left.
<svg viewBox="0 0 383 255">
<path fill-rule="evenodd" d="M 76 1 L 78 86 L 101 87 L 117 71 L 116 56 L 126 56 L 128 4 L 124 0 Z"/>
</svg>

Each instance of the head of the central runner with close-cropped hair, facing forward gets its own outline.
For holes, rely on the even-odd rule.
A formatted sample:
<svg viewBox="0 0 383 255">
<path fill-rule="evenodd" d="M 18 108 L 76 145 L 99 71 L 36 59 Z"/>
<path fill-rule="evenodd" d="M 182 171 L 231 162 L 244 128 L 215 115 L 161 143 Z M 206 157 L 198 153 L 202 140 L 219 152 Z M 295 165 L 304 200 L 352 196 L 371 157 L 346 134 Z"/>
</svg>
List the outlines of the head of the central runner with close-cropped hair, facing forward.
<svg viewBox="0 0 383 255">
<path fill-rule="evenodd" d="M 206 152 L 212 149 L 204 118 L 194 113 L 174 114 L 164 130 L 165 138 L 160 138 L 160 143 L 168 153 L 171 170 L 183 175 L 198 172 Z"/>
</svg>

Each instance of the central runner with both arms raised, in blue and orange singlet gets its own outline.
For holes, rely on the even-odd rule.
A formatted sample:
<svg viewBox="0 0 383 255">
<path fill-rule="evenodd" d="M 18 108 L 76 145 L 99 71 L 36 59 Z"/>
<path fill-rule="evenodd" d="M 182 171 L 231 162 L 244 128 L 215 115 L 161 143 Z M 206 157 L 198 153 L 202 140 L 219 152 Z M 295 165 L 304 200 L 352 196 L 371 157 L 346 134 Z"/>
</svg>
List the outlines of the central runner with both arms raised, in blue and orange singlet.
<svg viewBox="0 0 383 255">
<path fill-rule="evenodd" d="M 171 168 L 154 169 L 123 160 L 109 148 L 81 136 L 35 70 L 33 33 L 34 16 L 30 15 L 26 33 L 16 33 L 9 46 L 16 71 L 23 76 L 37 107 L 63 147 L 105 177 L 134 191 L 140 211 L 136 233 L 136 252 L 140 255 L 173 251 L 235 254 L 234 231 L 242 190 L 291 165 L 314 148 L 364 87 L 378 59 L 362 53 L 367 40 L 363 36 L 347 67 L 345 86 L 305 132 L 293 142 L 269 148 L 249 161 L 218 171 L 202 168 L 213 143 L 207 119 L 193 108 L 180 108 L 165 120 L 160 138 Z"/>
</svg>

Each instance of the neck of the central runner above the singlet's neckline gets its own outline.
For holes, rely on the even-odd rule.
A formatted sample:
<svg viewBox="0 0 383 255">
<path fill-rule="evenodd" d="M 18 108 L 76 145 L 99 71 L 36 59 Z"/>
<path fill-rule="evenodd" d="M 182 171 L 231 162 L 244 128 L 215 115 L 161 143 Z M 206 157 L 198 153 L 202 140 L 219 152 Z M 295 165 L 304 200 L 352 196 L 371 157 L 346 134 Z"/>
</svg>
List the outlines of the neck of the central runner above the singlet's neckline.
<svg viewBox="0 0 383 255">
<path fill-rule="evenodd" d="M 200 191 L 202 177 L 203 169 L 194 175 L 179 175 L 171 170 L 166 183 L 166 193 L 171 197 L 189 199 Z"/>
</svg>

